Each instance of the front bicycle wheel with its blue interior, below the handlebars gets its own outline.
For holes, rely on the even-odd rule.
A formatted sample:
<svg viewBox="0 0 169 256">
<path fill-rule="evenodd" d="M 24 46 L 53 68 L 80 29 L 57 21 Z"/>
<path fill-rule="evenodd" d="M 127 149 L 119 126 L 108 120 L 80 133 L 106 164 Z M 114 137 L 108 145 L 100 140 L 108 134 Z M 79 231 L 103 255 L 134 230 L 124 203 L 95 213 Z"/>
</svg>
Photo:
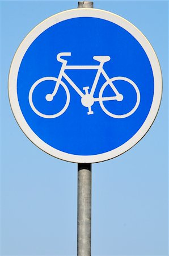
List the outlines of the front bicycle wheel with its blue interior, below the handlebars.
<svg viewBox="0 0 169 256">
<path fill-rule="evenodd" d="M 70 93 L 64 82 L 60 81 L 56 94 L 52 96 L 57 81 L 56 77 L 43 77 L 29 90 L 29 104 L 40 117 L 59 117 L 69 106 Z"/>
</svg>

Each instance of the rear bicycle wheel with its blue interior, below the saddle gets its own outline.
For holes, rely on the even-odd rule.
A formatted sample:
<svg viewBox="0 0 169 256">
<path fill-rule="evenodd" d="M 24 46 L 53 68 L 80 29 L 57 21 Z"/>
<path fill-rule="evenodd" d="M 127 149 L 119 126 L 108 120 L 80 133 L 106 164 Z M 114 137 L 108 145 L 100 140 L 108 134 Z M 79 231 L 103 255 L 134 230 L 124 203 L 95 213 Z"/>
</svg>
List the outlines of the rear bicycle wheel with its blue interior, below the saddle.
<svg viewBox="0 0 169 256">
<path fill-rule="evenodd" d="M 113 92 L 111 83 L 119 92 L 120 98 Z M 140 90 L 127 77 L 113 77 L 106 81 L 100 89 L 99 103 L 102 110 L 110 117 L 129 117 L 137 110 L 140 104 Z"/>
</svg>

